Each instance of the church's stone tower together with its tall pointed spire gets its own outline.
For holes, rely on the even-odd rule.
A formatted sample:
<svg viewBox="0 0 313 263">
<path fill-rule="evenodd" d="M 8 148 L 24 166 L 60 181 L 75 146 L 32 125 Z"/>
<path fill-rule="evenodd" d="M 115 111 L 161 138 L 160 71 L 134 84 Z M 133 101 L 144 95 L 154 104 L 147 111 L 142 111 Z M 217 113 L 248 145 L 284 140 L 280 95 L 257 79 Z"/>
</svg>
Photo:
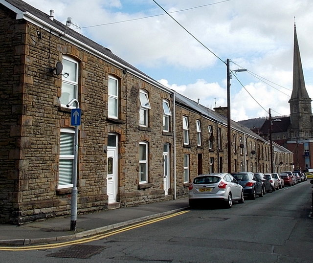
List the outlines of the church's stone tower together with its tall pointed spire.
<svg viewBox="0 0 313 263">
<path fill-rule="evenodd" d="M 312 100 L 305 88 L 300 49 L 294 23 L 293 85 L 289 100 L 291 119 L 289 137 L 291 140 L 299 141 L 313 138 L 311 102 Z"/>
</svg>

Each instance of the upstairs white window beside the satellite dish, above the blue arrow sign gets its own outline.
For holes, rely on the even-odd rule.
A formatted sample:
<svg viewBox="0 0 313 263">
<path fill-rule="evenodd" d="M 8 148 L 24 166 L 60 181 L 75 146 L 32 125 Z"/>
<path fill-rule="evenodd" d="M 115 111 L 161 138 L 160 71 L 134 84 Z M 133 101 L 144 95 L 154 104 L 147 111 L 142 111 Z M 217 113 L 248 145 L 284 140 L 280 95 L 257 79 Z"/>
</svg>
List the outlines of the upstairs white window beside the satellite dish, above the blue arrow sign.
<svg viewBox="0 0 313 263">
<path fill-rule="evenodd" d="M 62 94 L 60 101 L 61 106 L 66 107 L 71 99 L 78 99 L 78 62 L 69 57 L 63 57 L 62 64 Z M 74 106 L 69 108 L 74 108 Z"/>
</svg>

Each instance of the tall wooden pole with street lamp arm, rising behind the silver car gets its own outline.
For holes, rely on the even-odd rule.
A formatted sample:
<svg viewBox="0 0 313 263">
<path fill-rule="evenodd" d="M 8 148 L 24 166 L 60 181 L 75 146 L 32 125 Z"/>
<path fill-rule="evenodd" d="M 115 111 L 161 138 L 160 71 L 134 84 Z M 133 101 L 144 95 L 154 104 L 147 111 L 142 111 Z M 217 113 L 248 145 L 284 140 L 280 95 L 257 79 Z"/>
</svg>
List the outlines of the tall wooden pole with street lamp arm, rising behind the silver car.
<svg viewBox="0 0 313 263">
<path fill-rule="evenodd" d="M 243 72 L 247 71 L 245 68 L 239 68 L 235 70 L 230 70 L 229 59 L 226 60 L 227 67 L 227 164 L 228 173 L 231 173 L 231 123 L 230 123 L 230 79 L 231 72 Z"/>
</svg>

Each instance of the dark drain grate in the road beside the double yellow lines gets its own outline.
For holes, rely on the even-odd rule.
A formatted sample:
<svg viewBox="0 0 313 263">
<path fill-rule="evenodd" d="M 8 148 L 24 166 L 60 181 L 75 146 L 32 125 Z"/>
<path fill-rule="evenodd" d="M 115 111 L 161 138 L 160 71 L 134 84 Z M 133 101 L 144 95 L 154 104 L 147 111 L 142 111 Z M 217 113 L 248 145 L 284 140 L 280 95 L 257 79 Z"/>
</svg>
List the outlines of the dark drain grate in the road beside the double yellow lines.
<svg viewBox="0 0 313 263">
<path fill-rule="evenodd" d="M 72 245 L 46 256 L 57 258 L 88 259 L 92 255 L 100 253 L 105 248 L 105 246 Z"/>
</svg>

